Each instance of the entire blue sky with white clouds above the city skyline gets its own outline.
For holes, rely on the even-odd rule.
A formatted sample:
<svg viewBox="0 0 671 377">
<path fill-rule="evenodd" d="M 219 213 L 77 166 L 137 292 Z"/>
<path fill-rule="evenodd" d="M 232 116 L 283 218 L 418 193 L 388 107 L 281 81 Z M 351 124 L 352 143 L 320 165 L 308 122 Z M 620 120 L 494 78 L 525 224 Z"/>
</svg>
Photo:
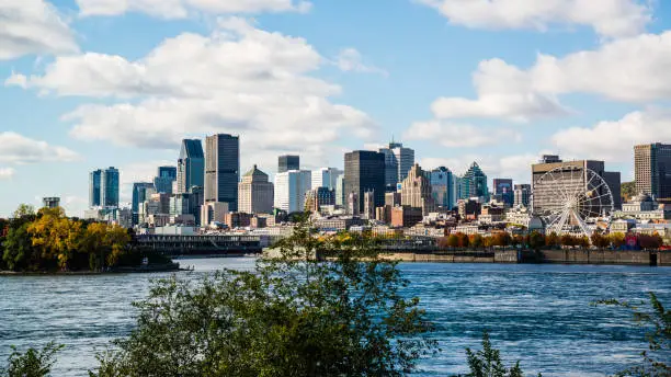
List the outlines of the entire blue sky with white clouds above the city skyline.
<svg viewBox="0 0 671 377">
<path fill-rule="evenodd" d="M 130 5 L 129 5 L 130 4 Z M 122 197 L 179 140 L 241 136 L 342 167 L 393 136 L 425 169 L 528 182 L 542 152 L 604 159 L 671 141 L 671 1 L 7 0 L 0 216 L 122 171 Z"/>
</svg>

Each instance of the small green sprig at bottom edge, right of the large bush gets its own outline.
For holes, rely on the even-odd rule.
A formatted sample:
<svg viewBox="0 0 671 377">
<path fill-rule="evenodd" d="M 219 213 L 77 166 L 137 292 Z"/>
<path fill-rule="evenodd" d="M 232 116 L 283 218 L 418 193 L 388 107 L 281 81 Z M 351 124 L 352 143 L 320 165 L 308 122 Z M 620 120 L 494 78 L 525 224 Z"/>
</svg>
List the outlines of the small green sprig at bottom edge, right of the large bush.
<svg viewBox="0 0 671 377">
<path fill-rule="evenodd" d="M 524 373 L 520 367 L 520 362 L 510 368 L 503 366 L 499 350 L 492 347 L 489 333 L 482 333 L 482 350 L 471 351 L 466 349 L 468 356 L 468 368 L 470 373 L 467 377 L 523 377 Z M 538 374 L 541 376 L 541 374 Z"/>
</svg>

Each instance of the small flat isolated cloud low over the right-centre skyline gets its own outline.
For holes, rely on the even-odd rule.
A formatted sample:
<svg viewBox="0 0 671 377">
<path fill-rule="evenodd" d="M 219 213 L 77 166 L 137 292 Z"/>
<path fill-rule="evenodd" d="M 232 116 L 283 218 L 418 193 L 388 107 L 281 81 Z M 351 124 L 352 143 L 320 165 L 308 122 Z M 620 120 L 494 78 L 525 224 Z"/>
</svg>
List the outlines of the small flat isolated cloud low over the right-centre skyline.
<svg viewBox="0 0 671 377">
<path fill-rule="evenodd" d="M 441 121 L 416 122 L 405 133 L 407 140 L 432 140 L 444 147 L 482 147 L 519 142 L 522 136 L 511 129 L 451 124 Z"/>
</svg>

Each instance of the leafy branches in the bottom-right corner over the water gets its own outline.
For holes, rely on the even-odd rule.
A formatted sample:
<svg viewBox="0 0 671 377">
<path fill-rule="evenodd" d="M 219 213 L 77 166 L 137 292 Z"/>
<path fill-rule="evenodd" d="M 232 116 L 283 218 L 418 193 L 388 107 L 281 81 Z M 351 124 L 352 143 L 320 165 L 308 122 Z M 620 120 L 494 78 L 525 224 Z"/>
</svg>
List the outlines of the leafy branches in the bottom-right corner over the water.
<svg viewBox="0 0 671 377">
<path fill-rule="evenodd" d="M 669 364 L 669 355 L 671 355 L 671 311 L 664 309 L 653 293 L 650 292 L 649 296 L 649 302 L 641 301 L 638 305 L 615 299 L 596 302 L 630 310 L 634 322 L 648 330 L 646 333 L 648 350 L 640 353 L 642 357 L 640 365 L 623 370 L 617 376 L 671 376 L 671 365 Z M 646 309 L 642 309 L 644 307 Z"/>
</svg>

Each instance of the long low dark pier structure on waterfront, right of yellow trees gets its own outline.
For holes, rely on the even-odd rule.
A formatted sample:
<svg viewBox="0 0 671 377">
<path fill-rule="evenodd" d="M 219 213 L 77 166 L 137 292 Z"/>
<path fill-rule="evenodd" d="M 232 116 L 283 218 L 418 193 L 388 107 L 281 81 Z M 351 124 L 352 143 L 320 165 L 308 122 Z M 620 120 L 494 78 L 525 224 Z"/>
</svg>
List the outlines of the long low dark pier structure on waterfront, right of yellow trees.
<svg viewBox="0 0 671 377">
<path fill-rule="evenodd" d="M 242 255 L 263 251 L 262 236 L 238 235 L 139 235 L 134 247 L 163 255 Z"/>
</svg>

